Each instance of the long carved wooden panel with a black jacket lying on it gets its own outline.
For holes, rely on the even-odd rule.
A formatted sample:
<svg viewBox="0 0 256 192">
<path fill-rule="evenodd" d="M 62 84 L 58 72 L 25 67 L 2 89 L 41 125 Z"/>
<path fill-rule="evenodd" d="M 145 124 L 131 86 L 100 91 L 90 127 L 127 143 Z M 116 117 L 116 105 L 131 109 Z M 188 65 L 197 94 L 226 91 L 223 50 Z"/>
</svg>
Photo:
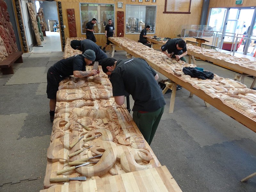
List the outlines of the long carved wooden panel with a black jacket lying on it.
<svg viewBox="0 0 256 192">
<path fill-rule="evenodd" d="M 126 37 L 110 37 L 109 39 L 132 56 L 145 59 L 156 71 L 256 132 L 255 90 L 216 74 L 212 80 L 192 78 L 185 75 L 182 69 L 183 67 L 196 67 L 196 65 L 168 58 L 164 53 Z M 181 76 L 176 76 L 176 71 Z"/>
</svg>

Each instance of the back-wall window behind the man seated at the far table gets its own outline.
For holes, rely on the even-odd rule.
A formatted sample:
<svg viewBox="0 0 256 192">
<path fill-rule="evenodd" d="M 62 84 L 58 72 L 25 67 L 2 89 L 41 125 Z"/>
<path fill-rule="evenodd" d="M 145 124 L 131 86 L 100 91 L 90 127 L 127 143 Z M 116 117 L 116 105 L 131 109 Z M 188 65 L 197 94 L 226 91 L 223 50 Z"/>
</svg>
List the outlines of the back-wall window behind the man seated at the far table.
<svg viewBox="0 0 256 192">
<path fill-rule="evenodd" d="M 126 33 L 140 33 L 147 25 L 155 33 L 156 6 L 126 5 Z"/>
</svg>

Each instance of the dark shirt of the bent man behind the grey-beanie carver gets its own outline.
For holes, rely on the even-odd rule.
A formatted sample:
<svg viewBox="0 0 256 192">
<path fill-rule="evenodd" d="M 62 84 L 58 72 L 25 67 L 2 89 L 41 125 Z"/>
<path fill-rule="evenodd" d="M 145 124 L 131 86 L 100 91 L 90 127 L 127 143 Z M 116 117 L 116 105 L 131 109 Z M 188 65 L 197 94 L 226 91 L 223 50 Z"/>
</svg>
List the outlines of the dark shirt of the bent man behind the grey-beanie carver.
<svg viewBox="0 0 256 192">
<path fill-rule="evenodd" d="M 108 58 L 107 54 L 104 53 L 100 49 L 100 47 L 96 43 L 94 43 L 92 40 L 84 39 L 84 40 L 80 41 L 80 43 L 81 43 L 82 53 L 84 53 L 88 49 L 91 49 L 95 52 L 95 55 L 96 55 L 95 61 L 99 61 L 99 60 Z"/>
</svg>

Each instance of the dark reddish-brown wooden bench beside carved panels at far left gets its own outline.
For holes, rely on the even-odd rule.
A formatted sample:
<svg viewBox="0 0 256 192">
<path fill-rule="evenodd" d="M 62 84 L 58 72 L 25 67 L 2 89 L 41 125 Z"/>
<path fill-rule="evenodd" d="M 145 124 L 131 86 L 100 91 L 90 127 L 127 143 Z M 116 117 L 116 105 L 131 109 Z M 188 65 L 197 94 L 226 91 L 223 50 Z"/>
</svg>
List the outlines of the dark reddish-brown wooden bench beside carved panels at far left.
<svg viewBox="0 0 256 192">
<path fill-rule="evenodd" d="M 14 74 L 12 64 L 23 63 L 22 54 L 23 52 L 21 51 L 13 52 L 0 62 L 0 68 L 3 75 Z"/>
</svg>

